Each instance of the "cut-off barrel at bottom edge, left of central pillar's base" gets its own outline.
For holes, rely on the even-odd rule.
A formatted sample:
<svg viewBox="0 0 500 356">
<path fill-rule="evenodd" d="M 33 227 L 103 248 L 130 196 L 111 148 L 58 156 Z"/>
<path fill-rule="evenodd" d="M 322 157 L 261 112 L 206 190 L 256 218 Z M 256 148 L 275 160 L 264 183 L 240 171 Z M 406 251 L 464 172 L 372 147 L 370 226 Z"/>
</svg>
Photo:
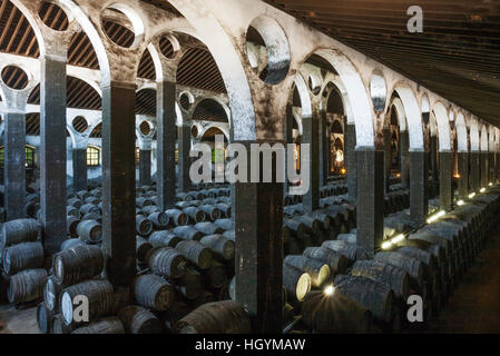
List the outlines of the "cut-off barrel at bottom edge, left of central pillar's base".
<svg viewBox="0 0 500 356">
<path fill-rule="evenodd" d="M 174 326 L 177 334 L 251 334 L 251 320 L 233 300 L 205 304 Z"/>
</svg>

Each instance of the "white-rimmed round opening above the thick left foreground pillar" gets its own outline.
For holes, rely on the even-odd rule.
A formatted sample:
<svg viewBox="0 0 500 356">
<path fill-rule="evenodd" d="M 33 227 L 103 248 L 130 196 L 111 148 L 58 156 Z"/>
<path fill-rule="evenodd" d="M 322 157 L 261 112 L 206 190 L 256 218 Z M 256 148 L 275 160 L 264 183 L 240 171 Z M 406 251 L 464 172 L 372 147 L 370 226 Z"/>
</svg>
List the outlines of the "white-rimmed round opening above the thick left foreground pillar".
<svg viewBox="0 0 500 356">
<path fill-rule="evenodd" d="M 115 3 L 104 10 L 101 23 L 109 40 L 122 48 L 134 48 L 144 38 L 143 21 L 126 4 Z"/>
</svg>

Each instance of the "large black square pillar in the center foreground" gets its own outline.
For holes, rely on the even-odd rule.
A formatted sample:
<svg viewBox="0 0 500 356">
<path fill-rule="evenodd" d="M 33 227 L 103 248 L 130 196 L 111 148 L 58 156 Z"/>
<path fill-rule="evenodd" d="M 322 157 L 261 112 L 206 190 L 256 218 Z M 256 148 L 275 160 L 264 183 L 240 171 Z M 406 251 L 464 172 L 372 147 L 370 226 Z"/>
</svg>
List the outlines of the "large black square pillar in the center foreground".
<svg viewBox="0 0 500 356">
<path fill-rule="evenodd" d="M 256 142 L 238 144 L 251 152 L 251 144 Z M 248 154 L 248 166 L 249 161 Z M 236 300 L 248 312 L 257 333 L 282 333 L 283 184 L 237 182 L 233 191 Z"/>
</svg>

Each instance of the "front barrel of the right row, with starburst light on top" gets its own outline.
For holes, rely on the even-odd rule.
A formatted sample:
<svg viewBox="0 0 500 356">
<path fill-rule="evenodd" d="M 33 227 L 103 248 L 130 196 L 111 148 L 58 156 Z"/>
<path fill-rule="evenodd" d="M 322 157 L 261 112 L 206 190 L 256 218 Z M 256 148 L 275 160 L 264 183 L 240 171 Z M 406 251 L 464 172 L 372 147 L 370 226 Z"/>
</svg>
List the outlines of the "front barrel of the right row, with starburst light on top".
<svg viewBox="0 0 500 356">
<path fill-rule="evenodd" d="M 325 296 L 313 290 L 302 304 L 302 320 L 316 334 L 367 334 L 372 313 L 340 291 Z"/>
</svg>

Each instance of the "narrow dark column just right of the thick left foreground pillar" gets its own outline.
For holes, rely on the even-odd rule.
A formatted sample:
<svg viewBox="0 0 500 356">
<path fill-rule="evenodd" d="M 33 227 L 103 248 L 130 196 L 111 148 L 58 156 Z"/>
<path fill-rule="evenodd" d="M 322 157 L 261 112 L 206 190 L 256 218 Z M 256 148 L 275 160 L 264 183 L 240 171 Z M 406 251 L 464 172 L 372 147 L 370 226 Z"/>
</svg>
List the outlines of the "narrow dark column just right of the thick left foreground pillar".
<svg viewBox="0 0 500 356">
<path fill-rule="evenodd" d="M 174 82 L 161 81 L 157 85 L 157 171 L 156 188 L 158 207 L 165 211 L 175 205 L 176 172 L 176 87 Z"/>
</svg>

